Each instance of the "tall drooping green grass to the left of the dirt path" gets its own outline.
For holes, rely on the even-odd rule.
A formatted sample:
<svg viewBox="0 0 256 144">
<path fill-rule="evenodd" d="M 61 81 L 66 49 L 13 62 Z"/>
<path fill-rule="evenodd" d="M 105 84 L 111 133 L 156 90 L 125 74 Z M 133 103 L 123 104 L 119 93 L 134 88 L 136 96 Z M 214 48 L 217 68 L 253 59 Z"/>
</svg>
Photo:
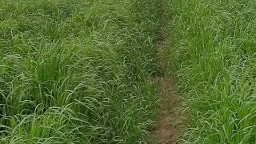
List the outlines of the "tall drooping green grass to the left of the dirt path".
<svg viewBox="0 0 256 144">
<path fill-rule="evenodd" d="M 0 143 L 147 143 L 157 1 L 0 1 Z"/>
</svg>

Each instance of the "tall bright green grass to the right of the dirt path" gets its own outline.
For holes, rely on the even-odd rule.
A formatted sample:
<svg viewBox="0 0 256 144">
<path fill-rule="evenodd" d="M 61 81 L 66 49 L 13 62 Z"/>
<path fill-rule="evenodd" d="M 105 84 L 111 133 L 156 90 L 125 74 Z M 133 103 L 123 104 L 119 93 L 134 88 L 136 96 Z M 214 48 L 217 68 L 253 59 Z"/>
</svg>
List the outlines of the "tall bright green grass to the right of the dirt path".
<svg viewBox="0 0 256 144">
<path fill-rule="evenodd" d="M 255 1 L 165 2 L 168 71 L 189 112 L 182 142 L 256 143 Z"/>
</svg>

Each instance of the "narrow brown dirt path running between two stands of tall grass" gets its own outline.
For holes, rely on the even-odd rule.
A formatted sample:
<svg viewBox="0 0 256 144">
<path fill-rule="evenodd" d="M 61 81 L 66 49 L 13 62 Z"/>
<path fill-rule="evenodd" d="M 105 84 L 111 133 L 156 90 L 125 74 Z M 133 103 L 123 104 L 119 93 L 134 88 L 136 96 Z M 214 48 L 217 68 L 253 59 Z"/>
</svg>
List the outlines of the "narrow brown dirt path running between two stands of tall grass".
<svg viewBox="0 0 256 144">
<path fill-rule="evenodd" d="M 166 13 L 165 1 L 159 0 L 159 22 L 162 24 L 158 29 L 158 35 L 161 37 L 156 45 L 158 58 L 158 71 L 161 76 L 155 76 L 153 82 L 160 85 L 159 97 L 161 101 L 157 107 L 156 127 L 151 131 L 154 144 L 174 144 L 178 143 L 181 132 L 181 102 L 180 94 L 174 90 L 174 81 L 170 76 L 166 76 L 167 61 L 165 60 L 165 49 L 170 46 L 168 39 L 169 28 L 167 21 L 170 20 Z M 171 55 L 170 55 L 171 57 Z"/>
</svg>

